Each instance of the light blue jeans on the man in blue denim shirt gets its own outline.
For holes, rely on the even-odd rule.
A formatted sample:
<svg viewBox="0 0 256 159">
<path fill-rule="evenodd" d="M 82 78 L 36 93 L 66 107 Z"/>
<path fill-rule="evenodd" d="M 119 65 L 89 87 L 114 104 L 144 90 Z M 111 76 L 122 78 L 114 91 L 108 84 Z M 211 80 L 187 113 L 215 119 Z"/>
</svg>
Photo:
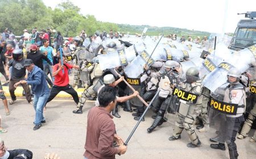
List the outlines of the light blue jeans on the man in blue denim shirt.
<svg viewBox="0 0 256 159">
<path fill-rule="evenodd" d="M 34 109 L 36 112 L 35 116 L 35 124 L 41 124 L 41 121 L 45 120 L 43 116 L 43 108 L 46 105 L 47 99 L 49 97 L 49 93 L 44 93 L 42 96 L 38 96 L 35 94 L 34 96 Z"/>
</svg>

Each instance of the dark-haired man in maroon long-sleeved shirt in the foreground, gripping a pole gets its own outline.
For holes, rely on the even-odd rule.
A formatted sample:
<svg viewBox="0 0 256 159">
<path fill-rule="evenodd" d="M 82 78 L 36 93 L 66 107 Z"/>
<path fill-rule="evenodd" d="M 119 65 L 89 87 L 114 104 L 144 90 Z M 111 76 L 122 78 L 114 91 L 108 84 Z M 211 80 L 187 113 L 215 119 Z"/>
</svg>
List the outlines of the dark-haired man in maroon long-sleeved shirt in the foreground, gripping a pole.
<svg viewBox="0 0 256 159">
<path fill-rule="evenodd" d="M 98 94 L 98 102 L 100 106 L 88 112 L 84 157 L 115 158 L 115 154 L 125 154 L 127 147 L 123 145 L 121 137 L 116 135 L 113 116 L 110 115 L 117 104 L 114 87 L 103 87 Z M 117 142 L 118 147 L 113 147 L 113 141 Z"/>
</svg>

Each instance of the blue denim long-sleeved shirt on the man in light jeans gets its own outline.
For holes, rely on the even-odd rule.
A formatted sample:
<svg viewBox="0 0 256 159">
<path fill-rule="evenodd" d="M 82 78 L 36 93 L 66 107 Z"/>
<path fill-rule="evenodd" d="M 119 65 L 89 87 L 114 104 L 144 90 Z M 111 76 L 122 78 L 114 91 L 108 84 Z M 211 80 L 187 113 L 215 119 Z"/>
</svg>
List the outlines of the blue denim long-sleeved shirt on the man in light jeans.
<svg viewBox="0 0 256 159">
<path fill-rule="evenodd" d="M 44 72 L 36 65 L 34 65 L 32 71 L 28 73 L 27 84 L 31 85 L 33 93 L 38 97 L 46 93 L 49 94 L 49 87 L 46 77 L 44 77 Z"/>
</svg>

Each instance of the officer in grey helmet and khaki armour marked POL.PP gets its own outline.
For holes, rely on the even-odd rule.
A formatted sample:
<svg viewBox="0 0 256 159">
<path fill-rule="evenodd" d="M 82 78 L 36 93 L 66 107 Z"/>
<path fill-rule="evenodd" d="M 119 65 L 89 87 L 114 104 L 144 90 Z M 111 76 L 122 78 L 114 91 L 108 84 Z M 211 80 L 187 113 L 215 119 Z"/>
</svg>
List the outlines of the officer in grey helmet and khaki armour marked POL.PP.
<svg viewBox="0 0 256 159">
<path fill-rule="evenodd" d="M 192 101 L 184 101 L 180 98 L 179 113 L 175 122 L 173 136 L 169 137 L 170 141 L 180 139 L 180 134 L 185 129 L 187 131 L 191 143 L 187 144 L 188 148 L 196 148 L 201 145 L 199 137 L 193 128 L 193 122 L 200 114 L 201 103 L 203 101 L 203 85 L 199 79 L 199 70 L 195 67 L 189 68 L 185 73 L 185 81 L 180 83 L 179 90 L 187 91 L 197 95 L 196 103 Z"/>
</svg>

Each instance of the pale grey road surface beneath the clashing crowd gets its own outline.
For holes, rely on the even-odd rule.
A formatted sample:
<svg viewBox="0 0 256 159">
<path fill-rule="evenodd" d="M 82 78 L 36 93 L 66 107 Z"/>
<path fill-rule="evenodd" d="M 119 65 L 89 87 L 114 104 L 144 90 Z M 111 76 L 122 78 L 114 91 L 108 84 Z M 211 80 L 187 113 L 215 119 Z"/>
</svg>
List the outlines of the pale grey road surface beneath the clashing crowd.
<svg viewBox="0 0 256 159">
<path fill-rule="evenodd" d="M 94 102 L 86 102 L 84 114 L 73 114 L 75 102 L 71 98 L 56 98 L 47 105 L 44 112 L 46 123 L 33 131 L 34 108 L 24 97 L 19 97 L 15 104 L 10 105 L 11 114 L 5 115 L 3 104 L 0 107 L 2 127 L 8 130 L 0 134 L 8 149 L 26 148 L 34 153 L 34 158 L 43 158 L 46 153 L 56 152 L 62 159 L 83 158 L 86 137 L 86 116 Z M 1 103 L 1 102 L 0 102 Z M 126 140 L 137 121 L 133 120 L 131 112 L 119 108 L 122 118 L 114 118 L 119 136 Z M 148 111 L 146 121 L 142 122 L 131 138 L 126 154 L 116 158 L 229 158 L 228 149 L 214 150 L 209 147 L 209 134 L 199 133 L 200 148 L 187 148 L 189 143 L 187 132 L 183 131 L 181 140 L 169 141 L 174 122 L 164 123 L 152 133 L 146 129 L 152 123 L 152 112 Z M 253 133 L 253 132 L 250 132 Z M 213 134 L 211 134 L 213 135 Z M 256 143 L 250 143 L 249 137 L 237 140 L 239 158 L 255 158 Z"/>
</svg>

